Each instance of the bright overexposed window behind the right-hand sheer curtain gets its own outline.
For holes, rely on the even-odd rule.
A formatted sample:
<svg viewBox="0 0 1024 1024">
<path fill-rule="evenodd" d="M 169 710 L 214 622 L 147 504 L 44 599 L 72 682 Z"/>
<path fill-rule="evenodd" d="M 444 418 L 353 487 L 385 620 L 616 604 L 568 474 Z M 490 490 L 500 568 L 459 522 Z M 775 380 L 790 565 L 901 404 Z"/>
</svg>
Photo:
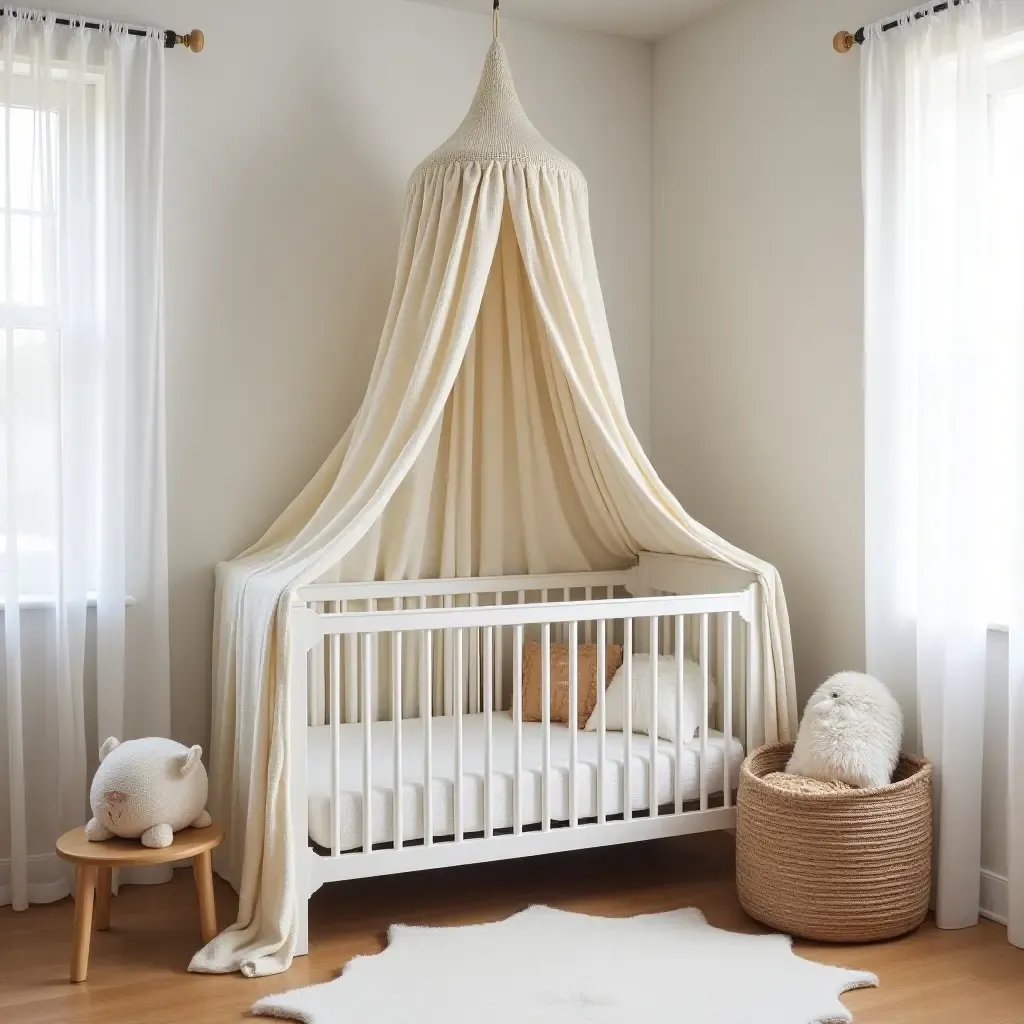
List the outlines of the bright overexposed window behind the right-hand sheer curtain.
<svg viewBox="0 0 1024 1024">
<path fill-rule="evenodd" d="M 1014 470 L 1024 452 L 1024 38 L 985 50 L 979 102 L 964 99 L 964 60 L 953 49 L 914 67 L 899 156 L 884 170 L 900 196 L 885 214 L 893 249 L 876 257 L 898 293 L 880 346 L 899 396 L 887 414 L 896 454 L 884 508 L 896 541 L 886 571 L 900 613 L 915 620 L 934 597 L 923 560 L 946 560 L 962 577 L 957 600 L 1005 626 L 1024 498 Z M 961 546 L 947 548 L 947 535 Z"/>
</svg>

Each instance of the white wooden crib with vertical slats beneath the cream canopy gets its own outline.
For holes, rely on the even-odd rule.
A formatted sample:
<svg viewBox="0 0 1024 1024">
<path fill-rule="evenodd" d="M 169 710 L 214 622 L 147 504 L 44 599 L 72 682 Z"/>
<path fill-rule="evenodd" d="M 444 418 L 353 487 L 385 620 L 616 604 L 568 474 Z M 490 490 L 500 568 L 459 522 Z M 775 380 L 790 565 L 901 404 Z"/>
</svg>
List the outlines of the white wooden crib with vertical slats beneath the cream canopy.
<svg viewBox="0 0 1024 1024">
<path fill-rule="evenodd" d="M 296 858 L 300 889 L 308 894 L 324 882 L 338 879 L 529 856 L 733 823 L 732 795 L 737 780 L 730 765 L 729 744 L 737 728 L 741 734 L 745 730 L 744 738 L 750 738 L 748 708 L 760 690 L 757 587 L 722 594 L 622 597 L 613 595 L 631 580 L 635 585 L 635 578 L 627 573 L 600 578 L 586 573 L 559 580 L 561 600 L 548 599 L 551 588 L 539 584 L 536 577 L 432 581 L 426 585 L 321 584 L 299 592 L 300 603 L 290 612 L 289 757 L 291 814 L 294 834 L 301 843 Z M 595 592 L 603 596 L 595 596 Z M 529 601 L 527 594 L 538 599 Z M 381 606 L 387 602 L 390 607 Z M 522 668 L 528 638 L 541 645 L 539 768 L 524 764 L 527 725 L 523 721 Z M 615 738 L 617 730 L 613 735 L 608 728 L 607 695 L 598 685 L 596 765 L 584 764 L 580 755 L 581 642 L 596 645 L 598 680 L 607 676 L 608 644 L 614 642 L 623 648 L 625 722 L 621 738 Z M 568 659 L 568 721 L 559 726 L 568 732 L 558 754 L 567 758 L 564 769 L 554 764 L 552 742 L 551 651 L 556 643 L 566 645 Z M 699 786 L 696 795 L 687 799 L 682 765 L 690 738 L 684 736 L 683 728 L 683 654 L 690 650 L 700 667 Z M 641 653 L 649 654 L 654 664 L 659 653 L 676 656 L 672 748 L 658 739 L 657 686 L 651 688 L 647 721 L 632 721 L 633 669 Z M 716 709 L 711 700 L 713 662 L 720 687 Z M 738 674 L 734 663 L 739 665 Z M 741 682 L 734 692 L 737 679 Z M 309 826 L 306 757 L 310 682 L 313 689 L 322 686 L 325 693 L 323 720 L 329 728 L 331 751 L 330 844 L 318 849 L 305 843 Z M 716 782 L 714 794 L 709 779 L 713 712 L 724 734 L 722 779 L 720 785 Z M 482 766 L 472 770 L 467 769 L 467 715 L 474 716 L 474 728 L 482 718 Z M 499 721 L 508 728 L 509 719 L 513 741 L 510 790 L 506 775 L 496 771 L 495 731 Z M 437 730 L 441 726 L 445 737 L 454 735 L 451 821 L 443 786 L 440 804 L 437 794 L 443 781 L 437 760 Z M 641 727 L 646 735 L 635 735 L 634 729 Z M 349 753 L 342 746 L 343 728 L 347 730 L 345 741 L 352 742 L 357 735 L 361 748 L 360 799 L 355 815 L 361 837 L 357 849 L 350 849 L 353 844 L 346 845 L 342 836 L 341 768 L 343 755 Z M 422 758 L 410 758 L 403 742 L 407 732 L 414 729 L 422 743 Z M 381 779 L 375 783 L 374 777 L 375 769 L 381 771 L 374 744 L 382 735 L 391 744 L 387 769 L 390 787 L 387 779 L 383 784 Z M 536 732 L 530 735 L 536 736 Z M 609 753 L 612 738 L 618 760 Z M 659 791 L 658 765 L 670 752 L 674 775 L 666 798 Z M 646 786 L 636 775 L 644 770 Z M 560 786 L 562 778 L 558 772 L 564 773 L 567 797 L 563 800 L 559 796 L 556 801 L 555 783 Z M 594 782 L 593 791 L 580 784 L 585 773 L 591 773 L 588 779 Z M 538 781 L 540 812 L 531 804 L 534 809 L 527 815 L 527 787 Z M 511 793 L 508 817 L 496 817 L 499 786 L 504 787 L 503 793 Z M 407 795 L 410 788 L 415 800 Z M 467 793 L 479 792 L 482 817 L 470 820 Z M 536 796 L 536 788 L 528 792 Z M 596 798 L 588 797 L 584 805 L 582 792 L 594 792 Z M 385 793 L 391 795 L 389 813 L 382 803 Z M 609 793 L 618 800 L 610 811 Z M 530 801 L 534 799 L 531 796 Z M 411 802 L 415 828 L 409 817 Z M 508 810 L 507 804 L 502 807 Z M 381 825 L 382 808 L 386 826 Z M 351 824 L 352 816 L 347 820 Z"/>
</svg>

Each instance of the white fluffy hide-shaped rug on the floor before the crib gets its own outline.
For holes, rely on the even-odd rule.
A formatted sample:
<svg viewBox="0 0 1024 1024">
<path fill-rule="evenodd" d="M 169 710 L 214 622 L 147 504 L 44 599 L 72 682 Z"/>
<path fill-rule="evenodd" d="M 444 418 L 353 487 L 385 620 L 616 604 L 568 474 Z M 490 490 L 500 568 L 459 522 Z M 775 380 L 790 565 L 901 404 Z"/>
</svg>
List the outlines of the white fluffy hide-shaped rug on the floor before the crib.
<svg viewBox="0 0 1024 1024">
<path fill-rule="evenodd" d="M 712 928 L 699 910 L 589 918 L 535 906 L 464 928 L 395 926 L 340 978 L 260 999 L 306 1024 L 818 1024 L 863 971 L 797 956 L 784 935 Z"/>
</svg>

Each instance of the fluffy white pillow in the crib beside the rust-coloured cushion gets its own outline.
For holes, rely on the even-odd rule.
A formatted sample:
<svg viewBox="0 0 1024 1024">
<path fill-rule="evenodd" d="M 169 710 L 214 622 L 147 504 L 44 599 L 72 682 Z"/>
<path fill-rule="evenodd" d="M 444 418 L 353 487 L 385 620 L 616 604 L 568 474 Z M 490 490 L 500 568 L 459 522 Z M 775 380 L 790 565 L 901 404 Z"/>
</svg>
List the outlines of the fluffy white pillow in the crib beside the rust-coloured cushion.
<svg viewBox="0 0 1024 1024">
<path fill-rule="evenodd" d="M 651 700 L 650 654 L 633 655 L 633 731 L 650 734 Z M 700 666 L 689 658 L 683 660 L 683 742 L 691 740 L 700 727 L 703 674 Z M 708 716 L 715 706 L 717 690 L 715 682 L 708 682 Z M 612 732 L 622 732 L 626 727 L 626 666 L 611 677 L 604 692 L 605 727 Z M 587 732 L 596 732 L 600 708 L 587 720 Z M 662 654 L 657 659 L 657 735 L 659 739 L 676 738 L 676 659 L 671 654 Z"/>
</svg>

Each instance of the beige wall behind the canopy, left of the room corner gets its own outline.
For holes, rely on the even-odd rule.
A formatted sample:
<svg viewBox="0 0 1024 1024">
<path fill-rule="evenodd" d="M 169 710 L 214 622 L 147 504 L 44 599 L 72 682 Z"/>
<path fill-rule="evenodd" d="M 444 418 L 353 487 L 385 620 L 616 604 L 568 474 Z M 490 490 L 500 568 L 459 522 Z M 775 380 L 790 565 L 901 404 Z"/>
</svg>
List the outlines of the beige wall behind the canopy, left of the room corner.
<svg viewBox="0 0 1024 1024">
<path fill-rule="evenodd" d="M 398 0 L 87 0 L 206 33 L 169 54 L 167 408 L 173 732 L 209 728 L 213 565 L 255 541 L 353 416 L 406 179 L 455 129 L 488 16 Z M 646 436 L 650 76 L 640 43 L 503 27 L 527 111 L 588 175 L 627 402 Z"/>
</svg>

